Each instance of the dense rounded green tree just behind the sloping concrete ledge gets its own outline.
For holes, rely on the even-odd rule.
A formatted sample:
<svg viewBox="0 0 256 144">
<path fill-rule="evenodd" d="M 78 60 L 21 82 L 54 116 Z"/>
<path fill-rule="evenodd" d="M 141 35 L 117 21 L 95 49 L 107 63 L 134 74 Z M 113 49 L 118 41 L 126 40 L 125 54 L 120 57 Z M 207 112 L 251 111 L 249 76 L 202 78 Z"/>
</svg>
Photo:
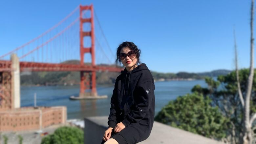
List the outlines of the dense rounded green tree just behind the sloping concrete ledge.
<svg viewBox="0 0 256 144">
<path fill-rule="evenodd" d="M 206 137 L 222 139 L 226 137 L 229 119 L 210 104 L 208 96 L 186 94 L 164 106 L 155 120 Z"/>
</svg>

